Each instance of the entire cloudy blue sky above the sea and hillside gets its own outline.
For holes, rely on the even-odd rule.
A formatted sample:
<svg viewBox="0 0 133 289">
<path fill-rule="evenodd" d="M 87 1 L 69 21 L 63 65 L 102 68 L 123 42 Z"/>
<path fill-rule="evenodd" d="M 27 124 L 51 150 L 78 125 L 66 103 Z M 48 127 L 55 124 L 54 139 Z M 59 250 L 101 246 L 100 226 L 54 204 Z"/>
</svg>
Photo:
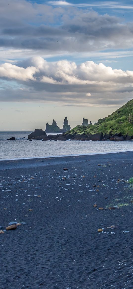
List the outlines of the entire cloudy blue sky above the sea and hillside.
<svg viewBox="0 0 133 289">
<path fill-rule="evenodd" d="M 0 5 L 0 131 L 94 123 L 133 98 L 133 0 Z"/>
</svg>

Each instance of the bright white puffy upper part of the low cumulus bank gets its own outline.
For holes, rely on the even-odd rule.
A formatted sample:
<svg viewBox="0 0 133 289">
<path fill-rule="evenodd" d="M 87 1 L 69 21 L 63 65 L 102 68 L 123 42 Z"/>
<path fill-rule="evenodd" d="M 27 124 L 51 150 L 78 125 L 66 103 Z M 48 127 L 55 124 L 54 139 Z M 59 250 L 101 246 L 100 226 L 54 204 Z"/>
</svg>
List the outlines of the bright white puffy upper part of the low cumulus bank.
<svg viewBox="0 0 133 289">
<path fill-rule="evenodd" d="M 0 65 L 0 77 L 16 79 L 21 81 L 36 80 L 47 84 L 76 84 L 76 85 L 113 85 L 132 84 L 133 71 L 112 69 L 103 63 L 96 64 L 93 61 L 86 61 L 79 65 L 67 60 L 47 62 L 41 57 L 33 57 L 19 63 L 20 66 L 4 63 Z M 24 67 L 23 67 L 24 66 Z M 25 67 L 26 66 L 26 67 Z"/>
</svg>

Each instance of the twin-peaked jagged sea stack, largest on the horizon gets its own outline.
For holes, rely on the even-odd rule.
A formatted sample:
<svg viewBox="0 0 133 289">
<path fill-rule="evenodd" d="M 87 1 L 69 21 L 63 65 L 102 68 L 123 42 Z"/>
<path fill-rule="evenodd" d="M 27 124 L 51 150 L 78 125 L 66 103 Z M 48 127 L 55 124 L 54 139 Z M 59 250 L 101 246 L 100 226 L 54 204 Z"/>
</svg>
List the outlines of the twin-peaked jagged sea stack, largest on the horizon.
<svg viewBox="0 0 133 289">
<path fill-rule="evenodd" d="M 53 123 L 52 125 L 49 125 L 48 123 L 46 123 L 46 129 L 45 129 L 45 132 L 46 133 L 51 133 L 51 134 L 56 134 L 56 133 L 63 133 L 63 132 L 66 132 L 68 130 L 70 130 L 71 127 L 70 125 L 68 125 L 68 118 L 67 116 L 65 117 L 64 119 L 64 123 L 63 123 L 63 128 L 60 129 L 58 126 L 57 126 L 57 123 L 55 120 L 53 120 Z"/>
</svg>

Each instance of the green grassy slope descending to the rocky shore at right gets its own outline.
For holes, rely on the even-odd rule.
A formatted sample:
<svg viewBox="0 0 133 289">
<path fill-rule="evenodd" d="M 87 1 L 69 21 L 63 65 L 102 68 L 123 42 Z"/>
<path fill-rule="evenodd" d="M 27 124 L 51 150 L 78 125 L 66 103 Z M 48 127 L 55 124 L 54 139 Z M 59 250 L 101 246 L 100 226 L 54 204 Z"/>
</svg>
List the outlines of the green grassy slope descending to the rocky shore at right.
<svg viewBox="0 0 133 289">
<path fill-rule="evenodd" d="M 100 118 L 94 125 L 76 126 L 64 135 L 70 138 L 74 135 L 94 135 L 102 133 L 104 137 L 110 138 L 115 134 L 133 136 L 133 99 L 106 118 Z"/>
</svg>

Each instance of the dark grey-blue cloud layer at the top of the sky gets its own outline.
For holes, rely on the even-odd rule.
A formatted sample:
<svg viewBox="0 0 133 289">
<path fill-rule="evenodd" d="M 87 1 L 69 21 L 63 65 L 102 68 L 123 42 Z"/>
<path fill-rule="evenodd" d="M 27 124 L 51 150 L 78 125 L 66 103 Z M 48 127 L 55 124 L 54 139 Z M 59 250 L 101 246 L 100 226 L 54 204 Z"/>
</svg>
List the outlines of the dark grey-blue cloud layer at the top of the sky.
<svg viewBox="0 0 133 289">
<path fill-rule="evenodd" d="M 14 55 L 19 51 L 25 57 L 30 53 L 62 55 L 133 46 L 133 23 L 124 23 L 121 18 L 78 8 L 72 3 L 69 6 L 65 1 L 52 1 L 49 5 L 25 0 L 8 2 L 9 5 L 1 0 L 0 10 L 0 47 L 5 53 L 8 50 L 7 59 L 9 49 L 14 50 Z M 50 3 L 63 5 L 55 7 Z M 95 5 L 118 4 L 106 1 Z"/>
</svg>

